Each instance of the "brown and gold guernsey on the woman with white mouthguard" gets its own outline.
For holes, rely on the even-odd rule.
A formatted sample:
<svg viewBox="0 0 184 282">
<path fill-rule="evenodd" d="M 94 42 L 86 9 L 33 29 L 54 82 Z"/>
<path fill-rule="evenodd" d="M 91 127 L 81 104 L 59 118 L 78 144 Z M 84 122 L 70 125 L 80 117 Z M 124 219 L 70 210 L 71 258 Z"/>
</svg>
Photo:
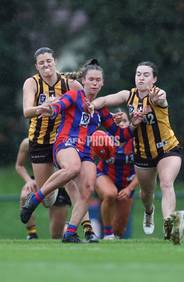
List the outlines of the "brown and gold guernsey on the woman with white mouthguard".
<svg viewBox="0 0 184 282">
<path fill-rule="evenodd" d="M 37 85 L 34 107 L 44 104 L 48 97 L 57 97 L 60 99 L 70 90 L 68 79 L 62 75 L 58 75 L 58 79 L 53 86 L 45 83 L 40 74 L 34 75 L 33 79 L 36 81 Z M 36 117 L 32 118 L 29 129 L 29 140 L 39 144 L 53 144 L 60 122 L 61 114 L 59 114 L 55 120 L 51 120 L 48 117 L 42 117 L 40 119 Z"/>
</svg>

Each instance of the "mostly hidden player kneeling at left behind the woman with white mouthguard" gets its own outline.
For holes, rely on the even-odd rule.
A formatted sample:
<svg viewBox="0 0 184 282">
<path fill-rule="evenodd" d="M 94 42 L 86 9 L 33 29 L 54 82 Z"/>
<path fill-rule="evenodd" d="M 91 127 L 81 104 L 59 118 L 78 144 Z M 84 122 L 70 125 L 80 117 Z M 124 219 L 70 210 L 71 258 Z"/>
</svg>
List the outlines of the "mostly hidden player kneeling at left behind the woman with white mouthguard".
<svg viewBox="0 0 184 282">
<path fill-rule="evenodd" d="M 25 138 L 19 147 L 15 168 L 18 174 L 25 180 L 25 185 L 21 190 L 21 207 L 25 204 L 25 198 L 30 192 L 37 192 L 36 181 L 34 175 L 29 176 L 25 161 L 29 154 L 29 138 Z M 68 211 L 71 206 L 71 200 L 65 189 L 62 190 L 61 195 L 56 198 L 55 203 L 48 208 L 50 218 L 50 233 L 53 239 L 60 239 L 66 233 L 66 220 Z M 26 224 L 28 231 L 27 240 L 38 239 L 36 233 L 35 216 L 32 214 L 30 220 Z"/>
</svg>

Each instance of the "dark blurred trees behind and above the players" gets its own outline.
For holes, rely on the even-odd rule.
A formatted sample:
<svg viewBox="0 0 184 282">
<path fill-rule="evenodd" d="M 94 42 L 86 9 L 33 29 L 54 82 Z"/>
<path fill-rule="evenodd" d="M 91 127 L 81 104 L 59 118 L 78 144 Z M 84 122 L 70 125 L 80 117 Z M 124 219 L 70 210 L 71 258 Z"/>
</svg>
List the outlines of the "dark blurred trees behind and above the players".
<svg viewBox="0 0 184 282">
<path fill-rule="evenodd" d="M 138 63 L 154 62 L 171 127 L 184 145 L 184 1 L 2 0 L 0 13 L 1 166 L 15 163 L 28 136 L 22 87 L 37 73 L 34 54 L 40 47 L 55 52 L 63 72 L 97 58 L 105 73 L 99 96 L 131 90 Z M 180 179 L 183 172 L 182 167 Z"/>
</svg>

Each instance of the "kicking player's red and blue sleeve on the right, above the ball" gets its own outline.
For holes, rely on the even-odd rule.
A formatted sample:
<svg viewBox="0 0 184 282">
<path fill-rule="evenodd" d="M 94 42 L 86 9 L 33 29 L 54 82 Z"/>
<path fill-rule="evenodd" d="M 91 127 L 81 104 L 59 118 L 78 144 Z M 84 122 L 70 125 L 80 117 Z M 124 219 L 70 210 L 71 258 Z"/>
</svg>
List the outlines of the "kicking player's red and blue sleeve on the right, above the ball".
<svg viewBox="0 0 184 282">
<path fill-rule="evenodd" d="M 135 137 L 135 134 L 130 129 L 130 126 L 125 128 L 117 126 L 113 120 L 113 116 L 107 109 L 102 108 L 101 111 L 98 111 L 101 115 L 102 126 L 105 127 L 105 129 L 108 130 L 111 135 L 119 136 L 120 142 L 124 143 L 126 140 Z"/>
</svg>

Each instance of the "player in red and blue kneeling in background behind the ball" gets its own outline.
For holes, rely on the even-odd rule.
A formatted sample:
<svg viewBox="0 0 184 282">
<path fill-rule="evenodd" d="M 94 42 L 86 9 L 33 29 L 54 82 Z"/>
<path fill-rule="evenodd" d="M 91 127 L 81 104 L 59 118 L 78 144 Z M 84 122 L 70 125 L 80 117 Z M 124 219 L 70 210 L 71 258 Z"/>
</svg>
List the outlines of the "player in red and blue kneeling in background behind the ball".
<svg viewBox="0 0 184 282">
<path fill-rule="evenodd" d="M 126 111 L 121 108 L 113 111 L 117 112 L 123 113 L 120 127 L 127 127 L 130 122 Z M 126 231 L 134 188 L 138 184 L 133 165 L 133 138 L 125 143 L 116 143 L 112 158 L 100 160 L 97 165 L 95 190 L 102 200 L 103 239 L 120 239 Z"/>
</svg>

